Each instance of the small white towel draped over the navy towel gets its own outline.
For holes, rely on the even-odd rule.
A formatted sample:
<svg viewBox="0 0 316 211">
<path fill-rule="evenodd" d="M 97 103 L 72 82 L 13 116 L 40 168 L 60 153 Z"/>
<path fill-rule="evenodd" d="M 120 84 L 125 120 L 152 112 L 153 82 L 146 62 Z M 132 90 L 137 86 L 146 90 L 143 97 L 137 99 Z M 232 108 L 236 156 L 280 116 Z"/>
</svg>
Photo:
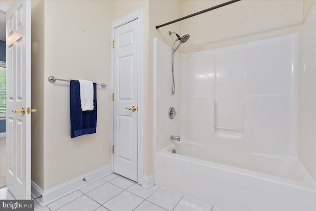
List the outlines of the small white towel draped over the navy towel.
<svg viewBox="0 0 316 211">
<path fill-rule="evenodd" d="M 79 80 L 80 100 L 82 111 L 93 111 L 93 83 L 90 81 Z"/>
</svg>

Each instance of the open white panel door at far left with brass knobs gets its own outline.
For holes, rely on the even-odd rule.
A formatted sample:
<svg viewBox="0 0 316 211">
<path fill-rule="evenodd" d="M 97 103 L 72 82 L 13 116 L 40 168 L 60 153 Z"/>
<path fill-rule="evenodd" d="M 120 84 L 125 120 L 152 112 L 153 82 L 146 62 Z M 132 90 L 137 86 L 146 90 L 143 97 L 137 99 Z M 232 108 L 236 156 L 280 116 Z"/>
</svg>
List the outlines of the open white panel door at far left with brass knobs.
<svg viewBox="0 0 316 211">
<path fill-rule="evenodd" d="M 31 1 L 6 12 L 6 84 L 6 186 L 16 199 L 31 199 Z"/>
</svg>

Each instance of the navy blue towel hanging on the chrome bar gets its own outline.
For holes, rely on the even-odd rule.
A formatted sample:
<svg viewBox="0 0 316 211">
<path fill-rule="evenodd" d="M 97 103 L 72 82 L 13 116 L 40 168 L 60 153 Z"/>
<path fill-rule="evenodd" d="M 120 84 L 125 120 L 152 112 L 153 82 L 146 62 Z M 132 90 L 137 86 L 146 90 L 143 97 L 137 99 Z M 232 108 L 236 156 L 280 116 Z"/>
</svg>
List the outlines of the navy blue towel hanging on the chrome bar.
<svg viewBox="0 0 316 211">
<path fill-rule="evenodd" d="M 70 135 L 75 138 L 96 132 L 97 84 L 93 83 L 93 111 L 82 111 L 79 81 L 70 80 Z"/>
</svg>

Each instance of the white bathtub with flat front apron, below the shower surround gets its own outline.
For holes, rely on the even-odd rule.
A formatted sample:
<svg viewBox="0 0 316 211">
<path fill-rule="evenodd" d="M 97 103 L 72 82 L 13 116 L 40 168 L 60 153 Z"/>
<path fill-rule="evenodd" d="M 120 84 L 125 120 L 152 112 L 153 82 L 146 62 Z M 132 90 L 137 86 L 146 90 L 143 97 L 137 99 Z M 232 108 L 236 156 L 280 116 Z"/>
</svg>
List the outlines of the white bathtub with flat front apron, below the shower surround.
<svg viewBox="0 0 316 211">
<path fill-rule="evenodd" d="M 155 181 L 226 211 L 316 211 L 315 183 L 291 158 L 179 142 L 157 153 Z"/>
</svg>

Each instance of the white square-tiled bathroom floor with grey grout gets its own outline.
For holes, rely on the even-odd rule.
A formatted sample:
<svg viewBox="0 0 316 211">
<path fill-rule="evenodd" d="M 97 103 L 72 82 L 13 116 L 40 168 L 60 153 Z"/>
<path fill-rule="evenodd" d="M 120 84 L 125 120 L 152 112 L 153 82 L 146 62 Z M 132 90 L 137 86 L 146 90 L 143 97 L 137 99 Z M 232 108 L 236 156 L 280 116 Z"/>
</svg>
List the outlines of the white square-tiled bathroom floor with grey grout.
<svg viewBox="0 0 316 211">
<path fill-rule="evenodd" d="M 0 199 L 14 199 L 7 189 Z M 150 189 L 112 173 L 35 211 L 221 211 L 190 197 L 154 185 Z"/>
</svg>

